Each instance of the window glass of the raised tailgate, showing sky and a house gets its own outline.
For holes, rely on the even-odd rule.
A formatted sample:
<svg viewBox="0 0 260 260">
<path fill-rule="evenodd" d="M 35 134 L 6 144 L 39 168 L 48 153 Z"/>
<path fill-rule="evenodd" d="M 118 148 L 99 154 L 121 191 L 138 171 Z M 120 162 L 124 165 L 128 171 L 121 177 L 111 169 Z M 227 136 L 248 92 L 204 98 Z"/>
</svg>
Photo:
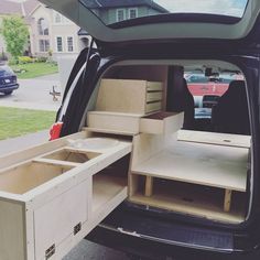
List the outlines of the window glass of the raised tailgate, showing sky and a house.
<svg viewBox="0 0 260 260">
<path fill-rule="evenodd" d="M 242 18 L 248 0 L 79 0 L 105 24 L 172 13 Z M 220 22 L 220 21 L 219 21 Z"/>
</svg>

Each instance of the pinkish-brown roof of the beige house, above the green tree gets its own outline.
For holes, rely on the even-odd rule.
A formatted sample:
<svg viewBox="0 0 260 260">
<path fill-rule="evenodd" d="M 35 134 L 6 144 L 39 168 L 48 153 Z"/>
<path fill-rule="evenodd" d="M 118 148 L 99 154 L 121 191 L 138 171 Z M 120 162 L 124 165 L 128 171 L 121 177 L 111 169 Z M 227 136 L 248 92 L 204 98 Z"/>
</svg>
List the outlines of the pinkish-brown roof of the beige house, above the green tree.
<svg viewBox="0 0 260 260">
<path fill-rule="evenodd" d="M 28 17 L 37 6 L 36 0 L 25 0 L 24 2 L 13 2 L 10 0 L 0 1 L 0 14 L 19 14 Z"/>
</svg>

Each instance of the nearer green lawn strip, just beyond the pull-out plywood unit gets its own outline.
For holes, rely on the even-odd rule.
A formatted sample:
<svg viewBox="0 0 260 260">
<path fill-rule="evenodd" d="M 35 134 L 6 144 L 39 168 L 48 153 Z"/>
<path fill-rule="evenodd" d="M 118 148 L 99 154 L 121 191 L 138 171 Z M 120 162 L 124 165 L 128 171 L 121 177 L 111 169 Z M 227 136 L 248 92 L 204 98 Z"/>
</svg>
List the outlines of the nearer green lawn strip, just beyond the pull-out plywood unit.
<svg viewBox="0 0 260 260">
<path fill-rule="evenodd" d="M 0 107 L 0 140 L 48 129 L 56 112 Z"/>
</svg>

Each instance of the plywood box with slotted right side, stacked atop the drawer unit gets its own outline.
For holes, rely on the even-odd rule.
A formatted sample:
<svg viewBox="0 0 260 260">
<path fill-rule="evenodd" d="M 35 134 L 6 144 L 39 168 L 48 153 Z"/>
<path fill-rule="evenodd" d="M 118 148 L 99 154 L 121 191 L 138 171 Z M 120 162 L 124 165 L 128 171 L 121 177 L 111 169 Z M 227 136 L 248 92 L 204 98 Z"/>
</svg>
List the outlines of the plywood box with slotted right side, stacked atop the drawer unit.
<svg viewBox="0 0 260 260">
<path fill-rule="evenodd" d="M 97 111 L 145 115 L 162 109 L 162 83 L 133 79 L 102 79 Z"/>
</svg>

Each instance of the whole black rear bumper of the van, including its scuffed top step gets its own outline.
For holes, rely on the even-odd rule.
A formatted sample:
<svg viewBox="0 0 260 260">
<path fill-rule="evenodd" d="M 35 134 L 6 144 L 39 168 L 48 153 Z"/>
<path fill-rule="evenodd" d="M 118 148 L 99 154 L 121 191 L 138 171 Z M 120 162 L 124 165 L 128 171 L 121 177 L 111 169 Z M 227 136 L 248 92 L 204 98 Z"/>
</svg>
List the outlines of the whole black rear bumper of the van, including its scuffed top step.
<svg viewBox="0 0 260 260">
<path fill-rule="evenodd" d="M 260 259 L 248 236 L 116 209 L 86 239 L 151 259 Z"/>
</svg>

